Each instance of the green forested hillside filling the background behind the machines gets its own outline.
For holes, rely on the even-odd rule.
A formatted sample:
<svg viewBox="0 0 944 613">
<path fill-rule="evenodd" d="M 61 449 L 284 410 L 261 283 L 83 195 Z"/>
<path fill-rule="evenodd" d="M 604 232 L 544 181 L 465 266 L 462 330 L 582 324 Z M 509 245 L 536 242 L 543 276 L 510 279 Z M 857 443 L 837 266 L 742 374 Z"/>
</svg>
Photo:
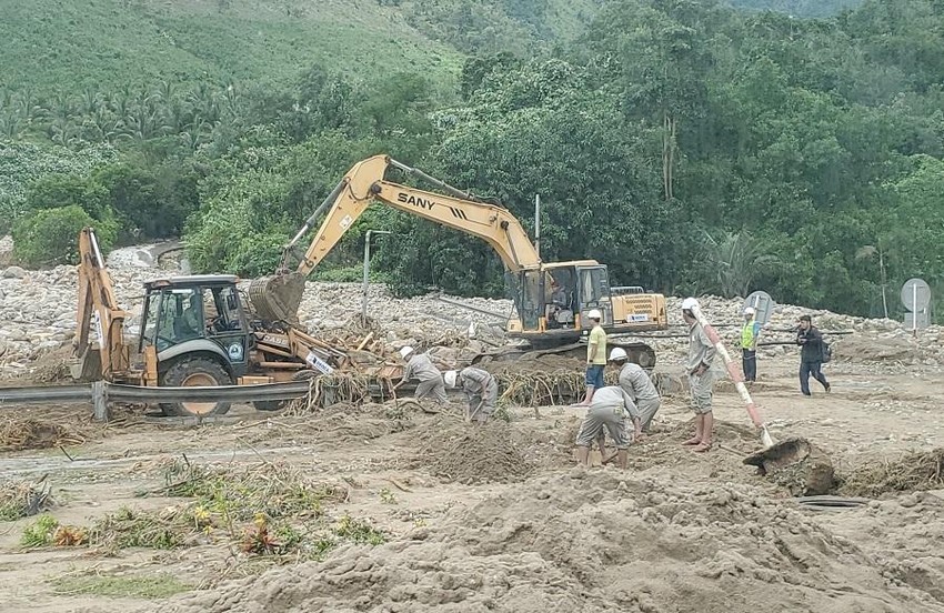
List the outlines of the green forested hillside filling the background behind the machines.
<svg viewBox="0 0 944 613">
<path fill-rule="evenodd" d="M 606 262 L 614 283 L 863 314 L 883 284 L 944 284 L 940 1 L 828 19 L 689 0 L 0 10 L 0 205 L 27 263 L 94 222 L 264 273 L 385 152 L 525 225 L 541 193 L 542 253 Z M 399 291 L 502 292 L 486 245 L 379 207 L 317 274 L 354 273 L 368 228 L 395 232 L 375 268 Z"/>
</svg>

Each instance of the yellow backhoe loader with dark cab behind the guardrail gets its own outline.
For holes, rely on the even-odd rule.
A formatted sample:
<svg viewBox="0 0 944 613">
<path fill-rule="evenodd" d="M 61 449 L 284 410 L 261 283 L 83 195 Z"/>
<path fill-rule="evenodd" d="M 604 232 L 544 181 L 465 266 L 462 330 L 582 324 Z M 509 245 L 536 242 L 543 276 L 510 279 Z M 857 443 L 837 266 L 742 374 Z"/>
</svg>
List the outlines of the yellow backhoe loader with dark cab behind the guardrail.
<svg viewBox="0 0 944 613">
<path fill-rule="evenodd" d="M 400 366 L 356 365 L 345 352 L 290 325 L 264 324 L 243 309 L 239 279 L 228 274 L 164 277 L 144 283 L 138 338 L 124 338 L 128 313 L 91 228 L 79 233 L 79 306 L 72 376 L 149 386 L 251 385 L 354 369 L 378 380 Z M 94 334 L 92 334 L 94 332 Z M 262 411 L 281 402 L 255 402 Z M 210 415 L 228 402 L 162 404 L 168 415 Z"/>
</svg>

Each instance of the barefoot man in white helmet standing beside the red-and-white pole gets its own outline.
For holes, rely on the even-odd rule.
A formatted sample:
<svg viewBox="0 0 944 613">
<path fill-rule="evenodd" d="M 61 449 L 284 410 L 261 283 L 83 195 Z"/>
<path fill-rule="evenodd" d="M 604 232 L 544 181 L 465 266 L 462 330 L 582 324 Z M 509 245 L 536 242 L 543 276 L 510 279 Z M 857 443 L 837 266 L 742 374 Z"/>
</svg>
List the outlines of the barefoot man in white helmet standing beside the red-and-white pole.
<svg viewBox="0 0 944 613">
<path fill-rule="evenodd" d="M 710 369 L 717 350 L 695 318 L 697 308 L 699 301 L 694 298 L 682 301 L 682 319 L 689 325 L 689 359 L 685 362 L 685 372 L 689 374 L 692 411 L 695 413 L 695 435 L 682 444 L 693 445 L 694 451 L 704 453 L 711 450 L 714 431 L 711 406 L 713 381 Z"/>
</svg>

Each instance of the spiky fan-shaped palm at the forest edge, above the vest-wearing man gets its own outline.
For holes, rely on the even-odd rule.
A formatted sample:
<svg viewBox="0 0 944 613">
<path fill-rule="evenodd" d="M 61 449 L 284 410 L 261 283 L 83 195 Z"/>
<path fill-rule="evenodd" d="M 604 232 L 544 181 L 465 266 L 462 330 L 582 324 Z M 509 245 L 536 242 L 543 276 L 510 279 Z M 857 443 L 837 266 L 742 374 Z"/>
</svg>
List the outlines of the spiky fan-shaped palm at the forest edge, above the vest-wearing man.
<svg viewBox="0 0 944 613">
<path fill-rule="evenodd" d="M 720 240 L 705 232 L 705 247 L 706 263 L 714 270 L 716 287 L 724 298 L 747 295 L 757 274 L 780 263 L 746 230 L 725 232 Z"/>
</svg>

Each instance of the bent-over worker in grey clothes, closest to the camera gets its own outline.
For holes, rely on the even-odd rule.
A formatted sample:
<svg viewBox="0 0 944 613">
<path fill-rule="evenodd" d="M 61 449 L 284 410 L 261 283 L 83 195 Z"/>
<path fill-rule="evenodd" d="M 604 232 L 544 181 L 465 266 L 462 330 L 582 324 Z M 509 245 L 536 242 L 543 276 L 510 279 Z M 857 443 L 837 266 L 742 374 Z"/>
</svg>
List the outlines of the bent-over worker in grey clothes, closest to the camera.
<svg viewBox="0 0 944 613">
<path fill-rule="evenodd" d="M 629 413 L 633 423 L 634 440 L 642 438 L 640 412 L 633 399 L 619 385 L 601 388 L 593 394 L 593 401 L 586 410 L 586 416 L 580 425 L 576 435 L 576 460 L 590 464 L 590 446 L 594 440 L 600 441 L 600 452 L 605 455 L 603 448 L 603 428 L 610 432 L 610 438 L 616 445 L 616 464 L 625 469 L 629 464 L 630 440 L 626 436 L 624 414 Z M 605 460 L 605 458 L 604 458 Z"/>
</svg>

